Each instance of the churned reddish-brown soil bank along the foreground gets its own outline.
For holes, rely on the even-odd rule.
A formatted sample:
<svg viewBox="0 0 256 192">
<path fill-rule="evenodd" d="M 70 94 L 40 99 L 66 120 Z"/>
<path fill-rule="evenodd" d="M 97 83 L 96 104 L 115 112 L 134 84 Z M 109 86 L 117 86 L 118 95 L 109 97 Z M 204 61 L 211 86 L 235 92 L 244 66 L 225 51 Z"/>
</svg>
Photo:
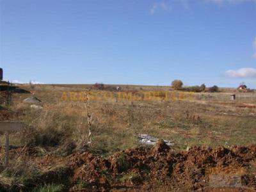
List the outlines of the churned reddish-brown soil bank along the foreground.
<svg viewBox="0 0 256 192">
<path fill-rule="evenodd" d="M 3 148 L 0 150 L 3 154 Z M 17 150 L 11 150 L 11 157 Z M 206 170 L 228 166 L 248 170 L 255 157 L 256 145 L 176 151 L 159 141 L 152 148 L 133 148 L 108 158 L 90 152 L 29 158 L 40 166 L 66 164 L 71 170 L 69 191 L 255 191 L 255 173 L 239 173 L 241 186 L 214 188 L 209 186 Z M 79 182 L 86 186 L 77 186 Z"/>
</svg>

